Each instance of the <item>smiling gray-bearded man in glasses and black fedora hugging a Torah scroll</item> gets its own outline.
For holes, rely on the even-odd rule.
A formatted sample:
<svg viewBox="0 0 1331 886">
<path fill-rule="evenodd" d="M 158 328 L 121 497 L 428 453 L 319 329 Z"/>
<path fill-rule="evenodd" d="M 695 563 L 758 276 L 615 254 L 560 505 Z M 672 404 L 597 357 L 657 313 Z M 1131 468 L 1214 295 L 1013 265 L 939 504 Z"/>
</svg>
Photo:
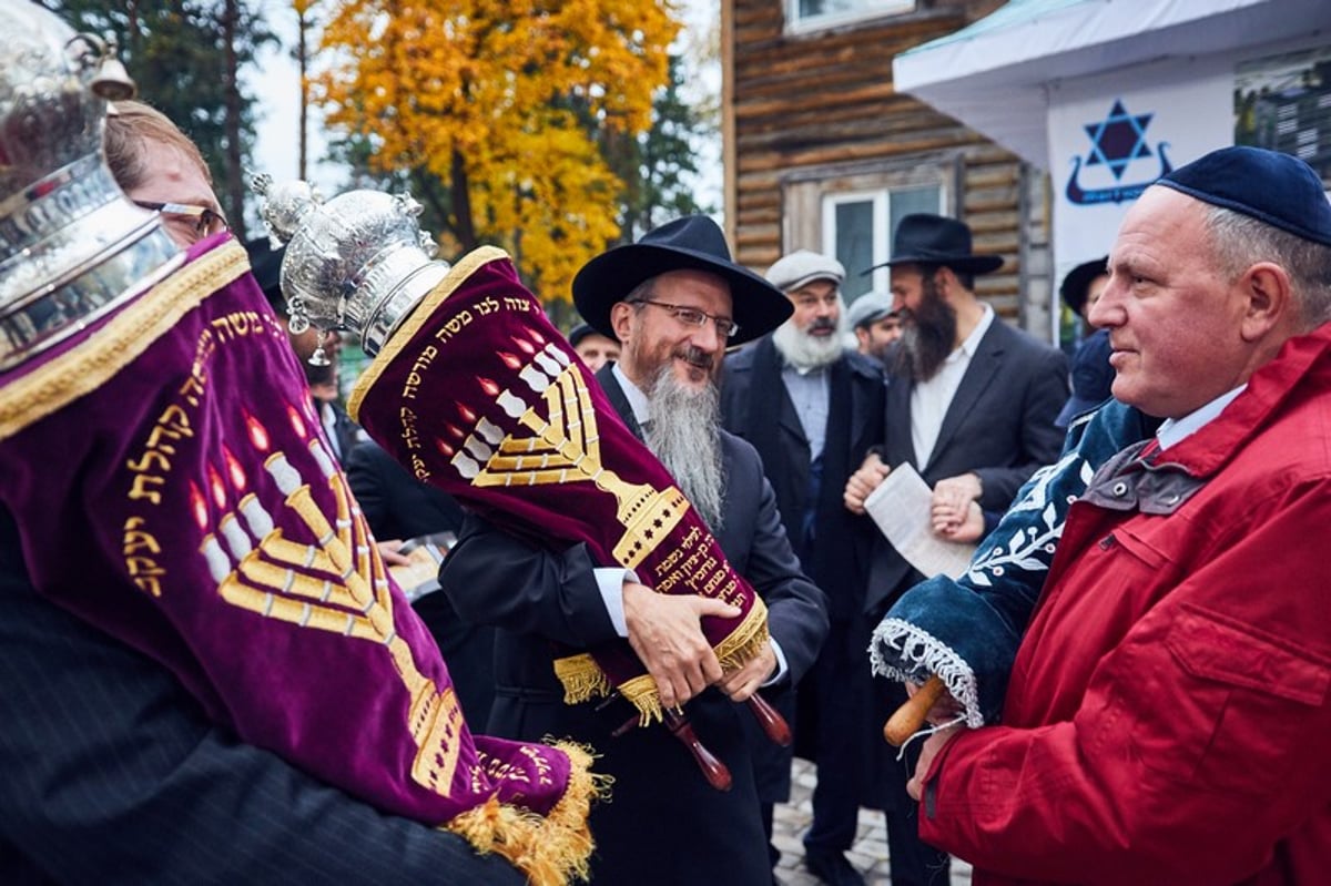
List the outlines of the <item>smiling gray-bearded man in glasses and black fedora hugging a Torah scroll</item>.
<svg viewBox="0 0 1331 886">
<path fill-rule="evenodd" d="M 496 734 L 568 736 L 592 745 L 614 776 L 614 801 L 594 808 L 596 883 L 772 882 L 753 765 L 740 710 L 760 688 L 781 689 L 811 666 L 827 632 L 823 593 L 791 551 L 752 446 L 720 428 L 717 376 L 731 345 L 791 314 L 761 277 L 731 261 L 720 227 L 691 216 L 611 249 L 574 278 L 574 302 L 620 359 L 596 374 L 610 404 L 655 454 L 705 520 L 735 569 L 764 599 L 771 644 L 721 673 L 700 617 L 720 600 L 655 593 L 651 575 L 595 561 L 586 544 L 543 545 L 469 516 L 445 560 L 443 591 L 465 617 L 495 624 Z M 564 704 L 556 635 L 587 647 L 627 637 L 666 706 L 684 705 L 733 786 L 712 789 L 662 726 L 614 737 L 634 708 L 622 700 Z M 685 705 L 687 702 L 687 705 Z"/>
</svg>

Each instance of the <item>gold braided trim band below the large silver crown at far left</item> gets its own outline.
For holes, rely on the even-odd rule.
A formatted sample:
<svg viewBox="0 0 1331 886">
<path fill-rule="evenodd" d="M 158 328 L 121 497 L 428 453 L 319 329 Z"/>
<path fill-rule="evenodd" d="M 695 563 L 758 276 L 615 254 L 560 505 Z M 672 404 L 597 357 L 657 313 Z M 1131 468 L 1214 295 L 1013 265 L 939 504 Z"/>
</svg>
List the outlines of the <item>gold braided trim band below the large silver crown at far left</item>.
<svg viewBox="0 0 1331 886">
<path fill-rule="evenodd" d="M 85 342 L 0 387 L 0 440 L 105 384 L 185 314 L 248 270 L 245 247 L 228 241 L 132 301 Z"/>
</svg>

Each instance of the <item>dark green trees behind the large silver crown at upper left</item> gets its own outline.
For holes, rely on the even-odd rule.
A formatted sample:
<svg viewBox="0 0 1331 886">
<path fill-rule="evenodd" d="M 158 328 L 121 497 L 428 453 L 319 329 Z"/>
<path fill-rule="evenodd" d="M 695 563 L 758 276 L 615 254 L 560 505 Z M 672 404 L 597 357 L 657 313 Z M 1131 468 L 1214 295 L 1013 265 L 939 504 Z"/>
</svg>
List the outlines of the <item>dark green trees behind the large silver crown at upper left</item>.
<svg viewBox="0 0 1331 886">
<path fill-rule="evenodd" d="M 246 0 L 41 0 L 76 31 L 113 35 L 138 97 L 198 145 L 228 218 L 245 235 L 253 97 L 240 72 L 276 37 Z"/>
</svg>

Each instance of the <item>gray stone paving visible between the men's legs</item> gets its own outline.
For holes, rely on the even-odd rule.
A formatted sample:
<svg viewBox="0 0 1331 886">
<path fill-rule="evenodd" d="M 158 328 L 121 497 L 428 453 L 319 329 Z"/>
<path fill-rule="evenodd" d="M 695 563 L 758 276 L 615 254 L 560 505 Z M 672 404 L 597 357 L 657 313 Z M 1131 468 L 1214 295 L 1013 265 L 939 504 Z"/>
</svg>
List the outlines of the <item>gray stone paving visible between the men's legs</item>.
<svg viewBox="0 0 1331 886">
<path fill-rule="evenodd" d="M 819 879 L 804 869 L 804 833 L 813 817 L 811 797 L 817 781 L 817 770 L 805 760 L 796 760 L 791 773 L 791 802 L 776 808 L 772 842 L 781 850 L 781 863 L 777 878 L 785 886 L 817 886 Z M 860 869 L 869 886 L 890 886 L 888 875 L 888 834 L 882 823 L 882 813 L 861 809 L 860 830 L 855 846 L 847 854 L 851 863 Z M 952 861 L 952 886 L 969 886 L 970 865 Z"/>
</svg>

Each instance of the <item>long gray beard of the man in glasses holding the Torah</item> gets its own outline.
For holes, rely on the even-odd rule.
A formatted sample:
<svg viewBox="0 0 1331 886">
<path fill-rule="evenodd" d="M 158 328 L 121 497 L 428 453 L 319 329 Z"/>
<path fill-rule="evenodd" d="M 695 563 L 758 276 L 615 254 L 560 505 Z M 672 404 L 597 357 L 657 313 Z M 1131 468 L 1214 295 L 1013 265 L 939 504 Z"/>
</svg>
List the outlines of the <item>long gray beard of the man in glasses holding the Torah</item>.
<svg viewBox="0 0 1331 886">
<path fill-rule="evenodd" d="M 713 531 L 723 523 L 725 470 L 721 462 L 721 398 L 715 382 L 703 390 L 680 384 L 667 363 L 656 374 L 647 398 L 652 420 L 647 448 L 675 478 L 680 491 Z"/>
</svg>

